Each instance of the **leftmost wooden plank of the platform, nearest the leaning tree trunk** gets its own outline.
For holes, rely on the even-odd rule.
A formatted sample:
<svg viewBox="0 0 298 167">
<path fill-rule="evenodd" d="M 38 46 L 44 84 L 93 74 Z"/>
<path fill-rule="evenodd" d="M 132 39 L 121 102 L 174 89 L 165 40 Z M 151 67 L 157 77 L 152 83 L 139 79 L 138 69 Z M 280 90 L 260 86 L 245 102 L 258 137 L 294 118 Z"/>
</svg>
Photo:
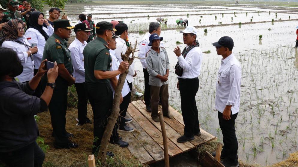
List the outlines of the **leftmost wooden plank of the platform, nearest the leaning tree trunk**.
<svg viewBox="0 0 298 167">
<path fill-rule="evenodd" d="M 129 110 L 130 112 L 139 112 L 139 110 L 136 109 L 136 107 L 133 106 L 131 103 L 129 104 L 127 110 Z M 131 117 L 129 113 L 127 113 L 127 115 Z M 144 131 L 144 129 L 141 128 L 141 126 L 133 117 L 131 118 L 133 119 L 133 121 L 129 124 L 135 129 L 132 134 L 143 145 L 143 147 L 155 161 L 163 160 L 164 154 L 162 148 Z"/>
</svg>

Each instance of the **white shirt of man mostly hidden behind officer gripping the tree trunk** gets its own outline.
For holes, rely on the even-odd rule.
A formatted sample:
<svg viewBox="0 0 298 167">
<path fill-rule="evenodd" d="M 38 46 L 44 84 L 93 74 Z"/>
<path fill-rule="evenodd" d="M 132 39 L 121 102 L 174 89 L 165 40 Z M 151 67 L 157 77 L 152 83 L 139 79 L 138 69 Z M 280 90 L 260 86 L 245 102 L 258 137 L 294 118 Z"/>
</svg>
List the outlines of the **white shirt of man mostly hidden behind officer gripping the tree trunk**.
<svg viewBox="0 0 298 167">
<path fill-rule="evenodd" d="M 112 57 L 112 66 L 111 66 L 111 71 L 114 71 L 114 70 L 118 70 L 118 67 L 120 65 L 120 62 L 118 61 L 116 55 L 115 55 L 115 50 L 111 50 L 110 49 L 110 55 Z M 117 79 L 119 79 L 119 76 L 120 75 L 117 75 Z M 110 87 L 113 91 L 113 98 L 114 98 L 114 94 L 115 94 L 115 89 L 113 88 L 112 86 L 112 83 L 110 82 Z M 125 82 L 124 82 L 124 85 L 123 85 L 123 88 L 122 88 L 122 91 L 121 91 L 121 94 L 122 94 L 122 97 L 126 96 L 128 93 L 130 92 L 130 88 L 128 86 L 128 83 L 127 83 L 127 79 L 125 79 Z"/>
</svg>

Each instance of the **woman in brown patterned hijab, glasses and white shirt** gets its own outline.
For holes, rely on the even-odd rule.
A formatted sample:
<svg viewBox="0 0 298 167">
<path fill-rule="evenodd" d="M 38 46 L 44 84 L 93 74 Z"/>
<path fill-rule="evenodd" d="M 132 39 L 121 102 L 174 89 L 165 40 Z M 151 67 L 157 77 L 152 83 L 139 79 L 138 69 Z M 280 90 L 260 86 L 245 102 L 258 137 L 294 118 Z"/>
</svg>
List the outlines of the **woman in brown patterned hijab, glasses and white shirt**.
<svg viewBox="0 0 298 167">
<path fill-rule="evenodd" d="M 37 47 L 31 48 L 30 43 L 24 36 L 24 29 L 22 20 L 10 20 L 3 25 L 4 36 L 0 39 L 1 47 L 12 48 L 24 67 L 23 72 L 16 76 L 19 82 L 29 82 L 33 78 L 33 54 L 38 51 Z"/>
</svg>

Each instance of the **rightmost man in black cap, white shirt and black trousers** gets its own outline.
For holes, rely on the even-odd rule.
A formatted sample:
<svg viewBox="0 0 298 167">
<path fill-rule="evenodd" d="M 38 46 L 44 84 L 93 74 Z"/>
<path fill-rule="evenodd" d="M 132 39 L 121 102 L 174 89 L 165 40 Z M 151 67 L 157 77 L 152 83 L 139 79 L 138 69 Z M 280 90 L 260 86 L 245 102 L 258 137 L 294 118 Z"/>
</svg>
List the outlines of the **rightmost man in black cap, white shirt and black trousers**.
<svg viewBox="0 0 298 167">
<path fill-rule="evenodd" d="M 231 37 L 223 36 L 212 45 L 215 46 L 217 54 L 222 55 L 215 94 L 215 108 L 224 143 L 220 158 L 223 159 L 224 166 L 238 167 L 235 119 L 239 112 L 241 66 L 232 53 L 234 42 Z"/>
</svg>

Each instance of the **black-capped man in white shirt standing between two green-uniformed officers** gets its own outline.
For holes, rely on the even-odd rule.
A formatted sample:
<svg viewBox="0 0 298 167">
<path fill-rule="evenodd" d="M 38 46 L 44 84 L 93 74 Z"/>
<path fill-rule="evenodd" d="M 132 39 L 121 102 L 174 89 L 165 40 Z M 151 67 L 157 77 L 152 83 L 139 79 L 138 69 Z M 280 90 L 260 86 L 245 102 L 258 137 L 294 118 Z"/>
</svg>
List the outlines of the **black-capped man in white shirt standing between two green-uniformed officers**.
<svg viewBox="0 0 298 167">
<path fill-rule="evenodd" d="M 84 125 L 85 123 L 92 123 L 87 117 L 87 94 L 85 93 L 85 68 L 83 51 L 87 45 L 86 40 L 89 37 L 89 32 L 92 29 L 88 28 L 85 23 L 75 25 L 74 32 L 76 33 L 75 40 L 69 45 L 71 54 L 71 62 L 73 64 L 73 77 L 76 78 L 75 86 L 78 94 L 78 117 L 76 125 Z"/>
</svg>

